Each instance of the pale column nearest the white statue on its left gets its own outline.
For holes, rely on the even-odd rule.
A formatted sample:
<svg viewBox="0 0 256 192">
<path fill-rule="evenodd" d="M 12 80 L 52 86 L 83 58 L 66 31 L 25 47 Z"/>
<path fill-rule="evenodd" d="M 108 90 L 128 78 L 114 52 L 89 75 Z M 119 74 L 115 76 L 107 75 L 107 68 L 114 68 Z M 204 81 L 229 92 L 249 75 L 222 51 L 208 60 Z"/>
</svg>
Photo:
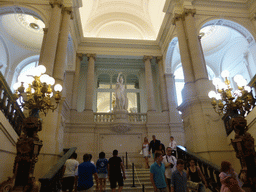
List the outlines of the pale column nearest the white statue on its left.
<svg viewBox="0 0 256 192">
<path fill-rule="evenodd" d="M 93 91 L 94 91 L 94 65 L 96 54 L 87 54 L 88 57 L 88 70 L 86 78 L 86 98 L 85 98 L 85 110 L 93 111 Z"/>
</svg>

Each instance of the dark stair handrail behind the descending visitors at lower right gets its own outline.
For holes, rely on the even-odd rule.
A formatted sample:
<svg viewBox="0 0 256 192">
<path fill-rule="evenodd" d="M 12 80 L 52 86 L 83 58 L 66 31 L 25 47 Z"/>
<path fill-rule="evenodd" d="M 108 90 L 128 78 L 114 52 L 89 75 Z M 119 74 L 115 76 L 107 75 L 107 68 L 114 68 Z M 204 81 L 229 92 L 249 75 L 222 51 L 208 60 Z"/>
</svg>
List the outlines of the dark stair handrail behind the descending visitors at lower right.
<svg viewBox="0 0 256 192">
<path fill-rule="evenodd" d="M 187 150 L 183 146 L 178 145 L 177 146 L 177 153 L 178 153 L 178 158 L 183 159 L 185 161 L 185 169 L 187 168 L 188 165 L 188 160 L 193 158 L 196 159 L 198 162 L 198 166 L 200 167 L 206 182 L 209 184 L 209 189 L 211 191 L 219 191 L 221 187 L 220 183 L 220 167 L 217 165 L 214 165 L 210 161 L 203 159 L 199 155 Z"/>
</svg>

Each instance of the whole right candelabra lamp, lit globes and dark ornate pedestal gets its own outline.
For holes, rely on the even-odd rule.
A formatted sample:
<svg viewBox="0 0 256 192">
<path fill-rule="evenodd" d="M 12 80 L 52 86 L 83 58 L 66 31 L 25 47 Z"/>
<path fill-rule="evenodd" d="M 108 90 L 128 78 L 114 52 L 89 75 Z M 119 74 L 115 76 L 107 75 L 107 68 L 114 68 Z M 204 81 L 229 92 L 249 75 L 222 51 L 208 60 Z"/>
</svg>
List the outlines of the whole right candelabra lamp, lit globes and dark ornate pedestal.
<svg viewBox="0 0 256 192">
<path fill-rule="evenodd" d="M 219 78 L 213 79 L 216 91 L 210 91 L 208 96 L 212 99 L 212 106 L 216 113 L 223 115 L 227 133 L 234 130 L 235 138 L 231 143 L 236 152 L 236 157 L 241 164 L 241 179 L 245 184 L 256 191 L 256 153 L 254 138 L 247 132 L 247 121 L 245 117 L 255 106 L 255 98 L 247 81 L 236 75 L 234 81 L 237 89 L 231 88 L 229 72 L 221 73 L 224 81 Z"/>
</svg>

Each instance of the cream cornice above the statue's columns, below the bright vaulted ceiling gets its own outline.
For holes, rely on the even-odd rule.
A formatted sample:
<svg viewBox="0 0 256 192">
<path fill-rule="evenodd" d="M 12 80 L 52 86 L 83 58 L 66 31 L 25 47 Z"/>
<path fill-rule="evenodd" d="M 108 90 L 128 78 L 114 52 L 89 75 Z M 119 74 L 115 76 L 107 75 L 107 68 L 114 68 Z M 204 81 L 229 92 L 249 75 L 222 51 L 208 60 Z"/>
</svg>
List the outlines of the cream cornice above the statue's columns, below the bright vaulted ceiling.
<svg viewBox="0 0 256 192">
<path fill-rule="evenodd" d="M 83 38 L 77 52 L 97 55 L 162 55 L 156 41 L 105 38 Z"/>
</svg>

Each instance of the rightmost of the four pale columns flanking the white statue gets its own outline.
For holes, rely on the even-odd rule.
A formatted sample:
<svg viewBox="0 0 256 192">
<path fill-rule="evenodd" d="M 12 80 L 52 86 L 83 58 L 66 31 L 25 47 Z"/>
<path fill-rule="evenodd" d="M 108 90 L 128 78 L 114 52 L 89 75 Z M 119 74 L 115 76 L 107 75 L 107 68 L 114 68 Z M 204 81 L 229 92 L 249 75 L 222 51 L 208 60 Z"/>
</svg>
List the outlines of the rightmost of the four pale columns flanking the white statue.
<svg viewBox="0 0 256 192">
<path fill-rule="evenodd" d="M 166 90 L 166 84 L 165 84 L 165 78 L 164 78 L 163 57 L 162 56 L 157 57 L 156 61 L 158 63 L 162 111 L 168 111 L 167 90 Z"/>
</svg>

